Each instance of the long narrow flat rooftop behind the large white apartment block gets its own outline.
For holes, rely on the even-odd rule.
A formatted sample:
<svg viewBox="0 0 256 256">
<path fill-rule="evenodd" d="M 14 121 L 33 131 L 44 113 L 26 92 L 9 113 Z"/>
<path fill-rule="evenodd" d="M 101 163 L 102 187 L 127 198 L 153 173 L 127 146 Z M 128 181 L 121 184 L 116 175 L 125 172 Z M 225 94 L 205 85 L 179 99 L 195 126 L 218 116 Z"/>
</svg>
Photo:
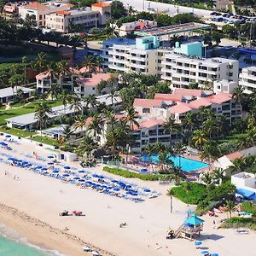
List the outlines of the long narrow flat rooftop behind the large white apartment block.
<svg viewBox="0 0 256 256">
<path fill-rule="evenodd" d="M 190 32 L 190 31 L 201 30 L 201 29 L 208 29 L 210 27 L 211 26 L 207 24 L 190 22 L 190 23 L 185 23 L 180 25 L 154 27 L 144 31 L 137 31 L 134 33 L 138 36 L 143 36 L 143 37 L 163 36 L 163 35 L 171 35 L 171 34 Z"/>
</svg>

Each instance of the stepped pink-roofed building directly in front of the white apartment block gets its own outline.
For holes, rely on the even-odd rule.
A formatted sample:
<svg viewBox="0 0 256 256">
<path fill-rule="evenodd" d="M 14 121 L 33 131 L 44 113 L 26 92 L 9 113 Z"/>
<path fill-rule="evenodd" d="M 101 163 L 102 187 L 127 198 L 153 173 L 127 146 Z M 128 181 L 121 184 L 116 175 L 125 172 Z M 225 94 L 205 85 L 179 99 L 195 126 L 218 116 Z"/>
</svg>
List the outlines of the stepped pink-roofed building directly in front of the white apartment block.
<svg viewBox="0 0 256 256">
<path fill-rule="evenodd" d="M 133 104 L 140 115 L 148 117 L 172 116 L 181 123 L 188 112 L 198 113 L 201 107 L 209 108 L 216 115 L 224 115 L 232 123 L 241 119 L 241 104 L 228 93 L 214 94 L 211 90 L 174 88 L 172 94 L 155 94 L 154 99 L 136 99 Z"/>
</svg>

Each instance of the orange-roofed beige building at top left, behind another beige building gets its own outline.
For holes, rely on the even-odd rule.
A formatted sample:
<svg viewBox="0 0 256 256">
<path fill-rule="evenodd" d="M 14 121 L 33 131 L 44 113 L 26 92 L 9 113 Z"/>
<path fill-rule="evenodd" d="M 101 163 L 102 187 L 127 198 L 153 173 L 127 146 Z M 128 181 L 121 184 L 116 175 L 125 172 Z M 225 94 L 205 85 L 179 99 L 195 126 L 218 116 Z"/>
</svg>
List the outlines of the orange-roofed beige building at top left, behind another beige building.
<svg viewBox="0 0 256 256">
<path fill-rule="evenodd" d="M 71 9 L 73 4 L 59 3 L 59 2 L 46 2 L 37 3 L 32 2 L 19 7 L 20 18 L 26 19 L 26 16 L 32 16 L 37 20 L 38 26 L 45 26 L 45 15 L 55 13 L 67 9 Z"/>
</svg>

